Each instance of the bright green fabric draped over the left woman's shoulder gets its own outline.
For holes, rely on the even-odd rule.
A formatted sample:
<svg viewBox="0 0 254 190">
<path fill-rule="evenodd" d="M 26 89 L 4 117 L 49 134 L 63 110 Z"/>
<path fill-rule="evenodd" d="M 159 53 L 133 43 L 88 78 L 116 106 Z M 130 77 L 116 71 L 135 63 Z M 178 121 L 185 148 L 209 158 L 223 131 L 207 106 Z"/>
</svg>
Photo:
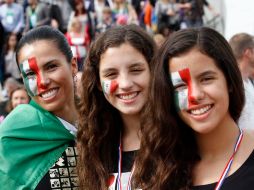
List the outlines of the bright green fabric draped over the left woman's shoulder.
<svg viewBox="0 0 254 190">
<path fill-rule="evenodd" d="M 35 102 L 19 105 L 0 125 L 0 189 L 35 189 L 74 139 Z"/>
</svg>

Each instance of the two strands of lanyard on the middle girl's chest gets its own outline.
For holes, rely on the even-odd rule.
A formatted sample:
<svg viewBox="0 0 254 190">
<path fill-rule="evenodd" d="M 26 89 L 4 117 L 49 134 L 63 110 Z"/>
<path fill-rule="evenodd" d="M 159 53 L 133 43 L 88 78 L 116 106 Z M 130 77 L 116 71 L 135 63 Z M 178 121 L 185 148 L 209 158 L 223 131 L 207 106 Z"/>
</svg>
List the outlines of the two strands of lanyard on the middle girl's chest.
<svg viewBox="0 0 254 190">
<path fill-rule="evenodd" d="M 121 181 L 121 177 L 122 177 L 122 138 L 120 135 L 120 143 L 119 143 L 119 148 L 118 148 L 118 178 L 117 178 L 117 190 L 122 190 L 122 181 Z M 134 164 L 133 167 L 131 169 L 131 173 L 128 179 L 128 184 L 127 184 L 127 190 L 131 190 L 131 178 L 133 175 L 133 171 L 134 171 Z"/>
</svg>

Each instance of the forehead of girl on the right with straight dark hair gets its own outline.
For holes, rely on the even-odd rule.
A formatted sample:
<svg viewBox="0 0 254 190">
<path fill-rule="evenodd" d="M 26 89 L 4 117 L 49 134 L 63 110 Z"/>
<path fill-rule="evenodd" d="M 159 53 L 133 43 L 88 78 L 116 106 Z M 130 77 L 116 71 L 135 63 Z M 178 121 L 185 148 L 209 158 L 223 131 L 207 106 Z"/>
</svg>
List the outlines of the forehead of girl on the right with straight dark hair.
<svg viewBox="0 0 254 190">
<path fill-rule="evenodd" d="M 190 73 L 201 73 L 203 71 L 218 71 L 215 61 L 197 49 L 192 49 L 184 54 L 169 60 L 169 71 L 177 72 L 189 68 Z"/>
</svg>

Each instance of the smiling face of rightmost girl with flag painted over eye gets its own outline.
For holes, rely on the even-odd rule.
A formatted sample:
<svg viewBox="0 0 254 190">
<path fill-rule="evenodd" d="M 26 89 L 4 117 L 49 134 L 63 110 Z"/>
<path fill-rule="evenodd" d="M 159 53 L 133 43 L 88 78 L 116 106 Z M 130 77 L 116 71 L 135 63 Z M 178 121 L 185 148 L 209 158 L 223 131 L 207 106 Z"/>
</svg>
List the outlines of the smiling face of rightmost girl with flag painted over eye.
<svg viewBox="0 0 254 190">
<path fill-rule="evenodd" d="M 179 115 L 194 131 L 212 131 L 230 117 L 226 79 L 213 59 L 192 49 L 169 68 Z"/>
</svg>

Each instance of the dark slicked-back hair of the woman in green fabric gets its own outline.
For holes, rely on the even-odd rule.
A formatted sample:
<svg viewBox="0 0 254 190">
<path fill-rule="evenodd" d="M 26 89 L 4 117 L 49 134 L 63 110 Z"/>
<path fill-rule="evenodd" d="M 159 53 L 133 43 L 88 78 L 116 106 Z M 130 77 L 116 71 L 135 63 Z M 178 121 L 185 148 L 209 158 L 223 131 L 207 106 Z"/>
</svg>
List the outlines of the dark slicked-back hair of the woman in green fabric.
<svg viewBox="0 0 254 190">
<path fill-rule="evenodd" d="M 25 46 L 26 44 L 32 44 L 39 40 L 48 40 L 55 43 L 57 48 L 66 57 L 66 60 L 68 61 L 68 63 L 71 62 L 73 54 L 63 33 L 61 33 L 59 30 L 54 29 L 50 26 L 40 26 L 30 30 L 20 39 L 17 46 L 17 51 L 16 51 L 16 61 L 18 63 L 18 66 L 19 66 L 18 57 L 19 57 L 19 52 L 21 48 Z"/>
</svg>

